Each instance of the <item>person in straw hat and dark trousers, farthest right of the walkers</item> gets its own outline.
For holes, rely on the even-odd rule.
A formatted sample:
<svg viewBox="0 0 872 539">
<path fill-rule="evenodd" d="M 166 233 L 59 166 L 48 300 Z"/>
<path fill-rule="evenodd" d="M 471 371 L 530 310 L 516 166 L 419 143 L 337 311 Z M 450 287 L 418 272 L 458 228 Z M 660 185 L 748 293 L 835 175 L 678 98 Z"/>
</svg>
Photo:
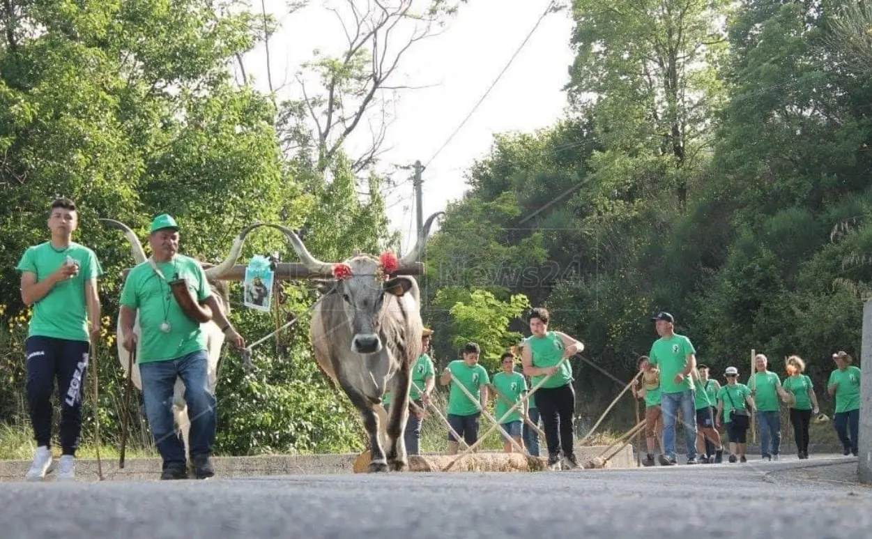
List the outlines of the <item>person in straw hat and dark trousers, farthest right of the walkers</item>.
<svg viewBox="0 0 872 539">
<path fill-rule="evenodd" d="M 860 428 L 860 369 L 852 365 L 851 358 L 846 351 L 837 351 L 833 354 L 833 361 L 838 366 L 830 372 L 827 391 L 835 395 L 835 413 L 833 425 L 835 432 L 839 434 L 839 440 L 843 447 L 842 454 L 857 456 L 857 433 Z M 848 437 L 848 428 L 850 437 Z"/>
</svg>

